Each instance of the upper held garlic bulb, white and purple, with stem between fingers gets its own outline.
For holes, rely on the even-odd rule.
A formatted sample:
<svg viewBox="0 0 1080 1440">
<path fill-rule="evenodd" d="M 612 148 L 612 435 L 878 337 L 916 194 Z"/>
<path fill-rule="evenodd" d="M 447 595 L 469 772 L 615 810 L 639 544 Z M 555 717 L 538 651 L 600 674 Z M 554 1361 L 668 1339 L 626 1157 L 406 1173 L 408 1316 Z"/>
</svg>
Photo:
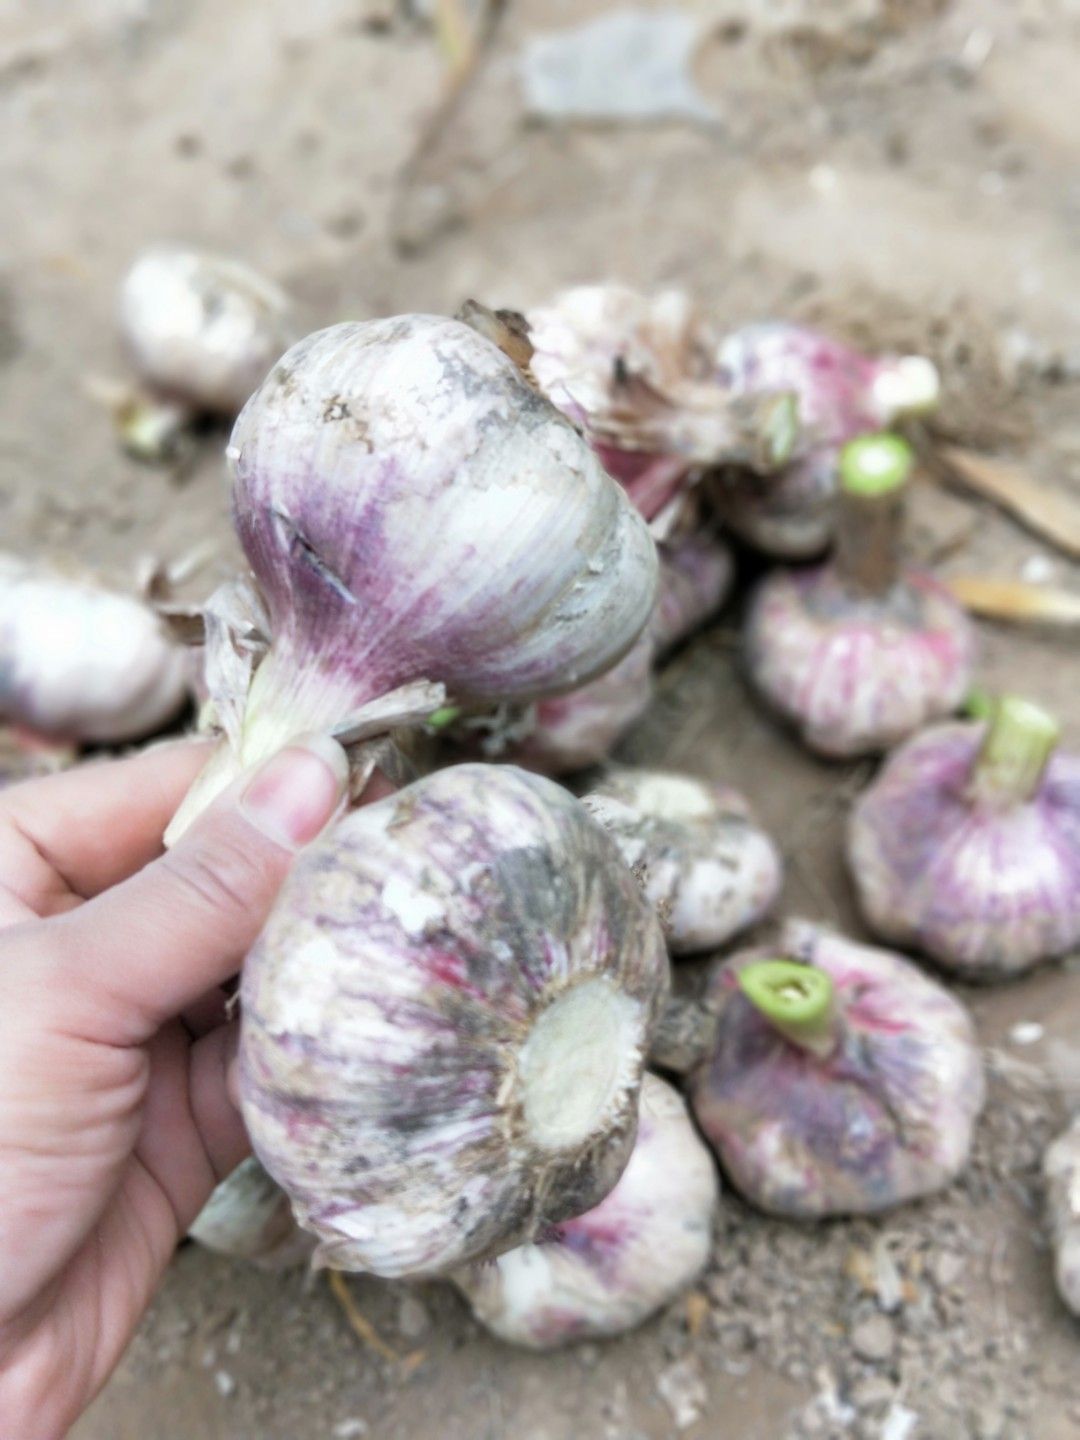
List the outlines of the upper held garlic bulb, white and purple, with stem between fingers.
<svg viewBox="0 0 1080 1440">
<path fill-rule="evenodd" d="M 340 324 L 285 354 L 229 445 L 258 595 L 212 605 L 225 742 L 179 831 L 297 734 L 346 742 L 613 665 L 652 611 L 651 536 L 573 426 L 468 324 Z"/>
</svg>

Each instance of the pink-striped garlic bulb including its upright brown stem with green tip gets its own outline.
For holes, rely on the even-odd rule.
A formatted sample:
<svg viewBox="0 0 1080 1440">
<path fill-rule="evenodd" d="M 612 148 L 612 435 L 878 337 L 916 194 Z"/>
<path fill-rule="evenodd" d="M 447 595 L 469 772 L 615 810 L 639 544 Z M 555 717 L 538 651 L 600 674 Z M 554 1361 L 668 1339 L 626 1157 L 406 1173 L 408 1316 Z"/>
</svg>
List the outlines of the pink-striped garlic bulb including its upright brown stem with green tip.
<svg viewBox="0 0 1080 1440">
<path fill-rule="evenodd" d="M 959 704 L 975 632 L 945 586 L 900 566 L 910 448 L 864 436 L 844 446 L 840 464 L 835 557 L 763 580 L 746 662 L 812 750 L 873 755 Z"/>
</svg>

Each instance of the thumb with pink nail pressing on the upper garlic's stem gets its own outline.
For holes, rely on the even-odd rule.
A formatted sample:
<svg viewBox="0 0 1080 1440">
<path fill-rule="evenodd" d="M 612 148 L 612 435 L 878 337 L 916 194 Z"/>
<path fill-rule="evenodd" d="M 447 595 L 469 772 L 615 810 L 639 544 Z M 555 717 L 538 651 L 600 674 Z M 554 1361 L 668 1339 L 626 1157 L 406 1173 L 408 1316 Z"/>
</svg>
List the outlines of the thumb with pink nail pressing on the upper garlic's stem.
<svg viewBox="0 0 1080 1440">
<path fill-rule="evenodd" d="M 294 740 L 240 776 L 144 870 L 55 926 L 75 992 L 105 991 L 104 1020 L 137 1044 L 233 975 L 295 852 L 343 804 L 348 760 L 328 736 Z M 95 1027 L 96 1028 L 96 1027 Z"/>
</svg>

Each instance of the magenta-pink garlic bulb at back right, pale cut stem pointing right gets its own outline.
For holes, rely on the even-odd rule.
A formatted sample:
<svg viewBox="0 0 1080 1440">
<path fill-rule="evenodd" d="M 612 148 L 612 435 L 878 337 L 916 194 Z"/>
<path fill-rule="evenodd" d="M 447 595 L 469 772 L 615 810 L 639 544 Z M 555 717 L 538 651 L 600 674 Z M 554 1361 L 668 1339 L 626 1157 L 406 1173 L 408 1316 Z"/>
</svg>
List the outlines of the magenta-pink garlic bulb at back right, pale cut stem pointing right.
<svg viewBox="0 0 1080 1440">
<path fill-rule="evenodd" d="M 727 336 L 717 367 L 734 395 L 798 397 L 799 442 L 789 464 L 765 480 L 726 474 L 714 488 L 736 534 L 788 560 L 819 554 L 832 537 L 841 445 L 935 409 L 940 393 L 937 372 L 922 356 L 876 359 L 780 321 Z"/>
</svg>

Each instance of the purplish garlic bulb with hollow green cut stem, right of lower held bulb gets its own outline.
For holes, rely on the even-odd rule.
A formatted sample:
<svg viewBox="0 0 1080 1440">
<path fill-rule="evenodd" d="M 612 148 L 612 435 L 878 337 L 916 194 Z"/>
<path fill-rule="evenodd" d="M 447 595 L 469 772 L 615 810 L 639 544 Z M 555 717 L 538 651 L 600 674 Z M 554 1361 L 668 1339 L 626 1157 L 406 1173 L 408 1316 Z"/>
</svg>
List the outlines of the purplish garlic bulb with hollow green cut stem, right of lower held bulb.
<svg viewBox="0 0 1080 1440">
<path fill-rule="evenodd" d="M 752 1204 L 871 1214 L 960 1172 L 982 1060 L 968 1012 L 914 965 L 791 922 L 778 948 L 720 966 L 711 989 L 727 1004 L 691 1100 Z"/>
</svg>

